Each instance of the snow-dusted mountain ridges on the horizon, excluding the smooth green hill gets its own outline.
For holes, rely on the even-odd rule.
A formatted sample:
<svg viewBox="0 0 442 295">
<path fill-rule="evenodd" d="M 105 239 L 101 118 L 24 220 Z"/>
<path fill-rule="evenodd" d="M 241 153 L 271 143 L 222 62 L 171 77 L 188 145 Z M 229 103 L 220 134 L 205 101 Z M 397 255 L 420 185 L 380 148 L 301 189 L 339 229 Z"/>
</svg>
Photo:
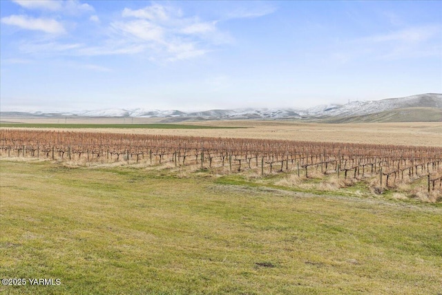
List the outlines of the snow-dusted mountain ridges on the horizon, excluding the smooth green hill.
<svg viewBox="0 0 442 295">
<path fill-rule="evenodd" d="M 392 111 L 398 108 L 441 108 L 442 94 L 427 93 L 408 97 L 382 99 L 376 101 L 354 101 L 348 104 L 320 105 L 307 109 L 294 108 L 239 108 L 232 110 L 209 110 L 183 112 L 177 110 L 145 110 L 142 108 L 106 108 L 99 110 L 71 112 L 29 112 L 15 115 L 37 115 L 39 117 L 78 116 L 78 117 L 163 117 L 169 121 L 182 120 L 228 120 L 228 119 L 309 119 L 323 117 L 354 117 Z M 1 115 L 11 115 L 3 112 Z"/>
</svg>

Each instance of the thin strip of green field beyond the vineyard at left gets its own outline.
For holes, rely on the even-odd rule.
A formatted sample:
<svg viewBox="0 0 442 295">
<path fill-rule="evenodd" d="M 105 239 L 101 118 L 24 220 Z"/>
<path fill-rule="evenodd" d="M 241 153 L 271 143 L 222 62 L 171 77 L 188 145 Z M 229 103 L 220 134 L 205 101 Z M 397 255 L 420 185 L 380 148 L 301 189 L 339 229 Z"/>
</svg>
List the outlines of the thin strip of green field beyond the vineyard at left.
<svg viewBox="0 0 442 295">
<path fill-rule="evenodd" d="M 32 124 L 32 123 L 1 123 L 4 128 L 121 128 L 121 129 L 236 129 L 245 127 L 220 127 L 204 125 L 185 125 L 185 124 Z"/>
</svg>

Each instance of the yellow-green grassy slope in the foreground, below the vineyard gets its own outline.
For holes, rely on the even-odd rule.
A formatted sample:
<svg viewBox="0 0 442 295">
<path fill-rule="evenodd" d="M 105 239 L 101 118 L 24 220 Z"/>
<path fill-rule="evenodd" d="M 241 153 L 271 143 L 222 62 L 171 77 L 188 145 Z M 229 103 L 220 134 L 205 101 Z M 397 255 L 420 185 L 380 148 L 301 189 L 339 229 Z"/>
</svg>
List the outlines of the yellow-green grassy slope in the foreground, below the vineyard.
<svg viewBox="0 0 442 295">
<path fill-rule="evenodd" d="M 437 294 L 442 209 L 1 161 L 7 294 Z"/>
</svg>

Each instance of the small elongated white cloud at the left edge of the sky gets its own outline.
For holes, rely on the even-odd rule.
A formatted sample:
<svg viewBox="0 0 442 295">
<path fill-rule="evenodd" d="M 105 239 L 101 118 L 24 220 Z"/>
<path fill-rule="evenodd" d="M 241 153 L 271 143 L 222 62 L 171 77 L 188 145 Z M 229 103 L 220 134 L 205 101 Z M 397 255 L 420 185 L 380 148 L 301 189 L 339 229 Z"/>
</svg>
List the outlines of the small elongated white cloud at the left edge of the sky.
<svg viewBox="0 0 442 295">
<path fill-rule="evenodd" d="M 41 30 L 50 34 L 66 32 L 64 26 L 55 19 L 35 19 L 26 15 L 10 15 L 9 17 L 2 17 L 1 22 L 26 30 Z"/>
</svg>

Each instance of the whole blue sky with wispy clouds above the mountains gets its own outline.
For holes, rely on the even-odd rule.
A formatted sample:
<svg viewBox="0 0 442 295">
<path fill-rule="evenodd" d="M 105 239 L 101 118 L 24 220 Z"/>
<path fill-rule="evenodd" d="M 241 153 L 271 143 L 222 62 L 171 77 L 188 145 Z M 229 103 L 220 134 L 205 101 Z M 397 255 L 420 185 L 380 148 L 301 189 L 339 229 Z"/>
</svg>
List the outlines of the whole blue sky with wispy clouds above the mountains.
<svg viewBox="0 0 442 295">
<path fill-rule="evenodd" d="M 442 93 L 442 1 L 0 1 L 1 111 Z"/>
</svg>

